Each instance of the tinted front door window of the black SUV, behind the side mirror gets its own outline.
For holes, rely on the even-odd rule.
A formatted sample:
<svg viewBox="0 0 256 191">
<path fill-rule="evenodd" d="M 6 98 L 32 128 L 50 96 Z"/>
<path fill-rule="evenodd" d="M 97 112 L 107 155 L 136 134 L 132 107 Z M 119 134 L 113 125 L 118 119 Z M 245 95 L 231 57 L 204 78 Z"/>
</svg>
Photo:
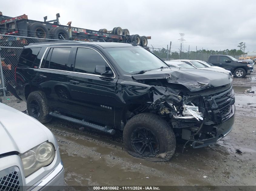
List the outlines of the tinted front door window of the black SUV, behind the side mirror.
<svg viewBox="0 0 256 191">
<path fill-rule="evenodd" d="M 75 58 L 75 72 L 95 74 L 96 66 L 106 66 L 110 70 L 102 56 L 93 49 L 78 48 Z"/>
</svg>

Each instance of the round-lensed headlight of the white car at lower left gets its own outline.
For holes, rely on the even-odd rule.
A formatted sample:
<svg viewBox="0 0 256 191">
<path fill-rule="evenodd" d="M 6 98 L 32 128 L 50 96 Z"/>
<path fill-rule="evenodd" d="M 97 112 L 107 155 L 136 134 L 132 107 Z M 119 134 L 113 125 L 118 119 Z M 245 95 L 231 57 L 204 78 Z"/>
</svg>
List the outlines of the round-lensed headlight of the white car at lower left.
<svg viewBox="0 0 256 191">
<path fill-rule="evenodd" d="M 24 167 L 25 177 L 53 161 L 55 149 L 52 143 L 44 142 L 20 155 Z"/>
</svg>

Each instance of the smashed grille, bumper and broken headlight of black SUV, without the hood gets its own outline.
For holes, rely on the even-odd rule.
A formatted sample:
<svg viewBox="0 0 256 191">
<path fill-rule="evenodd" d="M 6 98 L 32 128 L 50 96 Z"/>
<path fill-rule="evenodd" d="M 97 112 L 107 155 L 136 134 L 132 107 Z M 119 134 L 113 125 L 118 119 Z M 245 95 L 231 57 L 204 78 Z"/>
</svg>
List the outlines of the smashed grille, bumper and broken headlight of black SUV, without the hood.
<svg viewBox="0 0 256 191">
<path fill-rule="evenodd" d="M 193 148 L 214 144 L 233 128 L 234 102 L 231 84 L 185 97 L 179 113 L 171 114 L 171 124 L 182 139 L 192 142 Z"/>
</svg>

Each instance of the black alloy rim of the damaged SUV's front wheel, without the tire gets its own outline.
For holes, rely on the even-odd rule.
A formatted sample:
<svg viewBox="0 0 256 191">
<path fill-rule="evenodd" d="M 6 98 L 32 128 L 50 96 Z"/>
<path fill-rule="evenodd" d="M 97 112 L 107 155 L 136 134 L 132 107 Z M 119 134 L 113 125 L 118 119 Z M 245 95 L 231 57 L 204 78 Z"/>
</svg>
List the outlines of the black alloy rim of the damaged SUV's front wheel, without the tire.
<svg viewBox="0 0 256 191">
<path fill-rule="evenodd" d="M 131 145 L 143 157 L 155 157 L 159 151 L 159 140 L 155 133 L 146 127 L 138 127 L 131 133 Z"/>
</svg>

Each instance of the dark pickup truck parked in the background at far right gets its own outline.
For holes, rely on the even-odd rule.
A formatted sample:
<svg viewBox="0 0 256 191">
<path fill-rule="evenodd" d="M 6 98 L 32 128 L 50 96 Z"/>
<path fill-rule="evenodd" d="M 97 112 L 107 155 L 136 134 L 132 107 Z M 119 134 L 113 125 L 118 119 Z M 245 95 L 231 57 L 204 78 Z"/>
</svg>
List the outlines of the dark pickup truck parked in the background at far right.
<svg viewBox="0 0 256 191">
<path fill-rule="evenodd" d="M 229 70 L 236 78 L 244 78 L 253 72 L 252 60 L 237 60 L 228 55 L 211 55 L 208 58 L 208 62 Z"/>
</svg>

